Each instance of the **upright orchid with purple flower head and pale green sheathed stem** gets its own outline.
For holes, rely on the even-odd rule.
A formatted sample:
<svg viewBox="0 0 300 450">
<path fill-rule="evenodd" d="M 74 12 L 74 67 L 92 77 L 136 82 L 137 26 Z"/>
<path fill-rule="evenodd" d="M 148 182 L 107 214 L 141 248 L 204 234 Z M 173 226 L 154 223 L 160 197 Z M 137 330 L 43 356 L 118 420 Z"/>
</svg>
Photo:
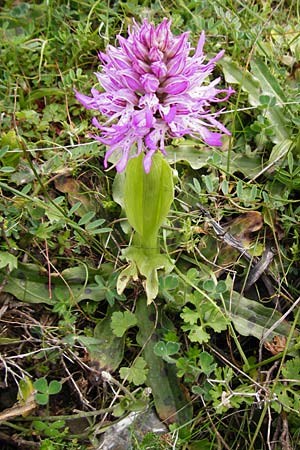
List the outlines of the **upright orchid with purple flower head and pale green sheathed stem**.
<svg viewBox="0 0 300 450">
<path fill-rule="evenodd" d="M 175 36 L 166 18 L 157 26 L 134 21 L 127 39 L 117 36 L 118 47 L 99 53 L 102 70 L 96 76 L 103 91 L 93 88 L 90 97 L 76 91 L 87 109 L 100 113 L 101 121 L 92 120 L 100 135 L 92 136 L 108 147 L 104 167 L 112 161 L 118 172 L 125 171 L 124 206 L 135 234 L 123 252 L 129 265 L 119 276 L 118 291 L 141 274 L 148 303 L 158 293 L 157 271 L 173 267 L 158 246 L 159 228 L 174 199 L 165 143 L 188 135 L 221 146 L 222 134 L 230 135 L 217 119 L 221 111 L 211 111 L 234 92 L 219 89 L 220 78 L 209 78 L 224 51 L 205 62 L 204 32 L 196 49 L 188 38 L 188 32 Z"/>
</svg>

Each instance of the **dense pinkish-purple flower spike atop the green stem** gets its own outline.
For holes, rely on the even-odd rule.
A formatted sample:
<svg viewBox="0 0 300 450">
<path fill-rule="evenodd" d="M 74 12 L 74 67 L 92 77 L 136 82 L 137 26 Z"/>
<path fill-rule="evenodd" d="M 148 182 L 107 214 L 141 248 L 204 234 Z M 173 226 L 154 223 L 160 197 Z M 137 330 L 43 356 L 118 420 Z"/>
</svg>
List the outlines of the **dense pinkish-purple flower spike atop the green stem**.
<svg viewBox="0 0 300 450">
<path fill-rule="evenodd" d="M 134 22 L 127 39 L 118 36 L 119 47 L 99 53 L 102 71 L 96 76 L 104 91 L 93 88 L 91 97 L 76 91 L 85 108 L 106 117 L 102 124 L 93 119 L 101 132 L 93 137 L 108 146 L 105 167 L 115 153 L 122 172 L 130 158 L 143 152 L 148 173 L 153 154 L 166 154 L 168 138 L 190 135 L 220 146 L 221 133 L 230 135 L 216 119 L 220 111 L 211 112 L 211 104 L 227 101 L 234 92 L 218 89 L 219 79 L 209 80 L 224 51 L 204 63 L 204 32 L 190 56 L 188 33 L 175 36 L 170 27 L 166 18 L 157 27 L 147 19 Z"/>
</svg>

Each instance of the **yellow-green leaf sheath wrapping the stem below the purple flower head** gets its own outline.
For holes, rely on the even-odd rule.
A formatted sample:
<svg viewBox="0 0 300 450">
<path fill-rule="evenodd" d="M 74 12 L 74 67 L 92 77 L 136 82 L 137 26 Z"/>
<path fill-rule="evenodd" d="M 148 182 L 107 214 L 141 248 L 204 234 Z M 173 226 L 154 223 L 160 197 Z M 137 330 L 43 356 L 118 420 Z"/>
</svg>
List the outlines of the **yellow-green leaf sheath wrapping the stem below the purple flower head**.
<svg viewBox="0 0 300 450">
<path fill-rule="evenodd" d="M 152 158 L 147 174 L 143 167 L 143 156 L 129 161 L 124 184 L 124 206 L 129 223 L 135 230 L 133 245 L 123 251 L 129 262 L 117 282 L 117 291 L 122 293 L 130 278 L 144 277 L 147 302 L 151 303 L 158 293 L 158 270 L 170 272 L 172 262 L 161 255 L 158 248 L 158 231 L 166 219 L 174 198 L 173 176 L 169 164 L 161 154 Z"/>
</svg>

